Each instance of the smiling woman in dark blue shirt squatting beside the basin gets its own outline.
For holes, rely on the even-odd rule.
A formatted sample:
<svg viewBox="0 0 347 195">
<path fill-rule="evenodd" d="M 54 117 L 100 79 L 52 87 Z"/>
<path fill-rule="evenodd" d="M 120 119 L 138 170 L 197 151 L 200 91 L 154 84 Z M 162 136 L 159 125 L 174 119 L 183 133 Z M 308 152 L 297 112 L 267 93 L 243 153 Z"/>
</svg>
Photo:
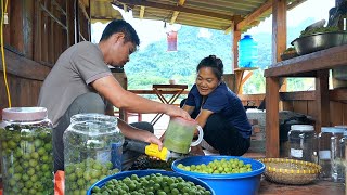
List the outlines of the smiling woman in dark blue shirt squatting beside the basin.
<svg viewBox="0 0 347 195">
<path fill-rule="evenodd" d="M 196 73 L 182 108 L 195 118 L 204 140 L 220 155 L 243 155 L 250 146 L 252 126 L 241 100 L 222 81 L 222 61 L 209 55 L 200 62 Z M 201 152 L 201 146 L 192 148 L 192 153 Z"/>
</svg>

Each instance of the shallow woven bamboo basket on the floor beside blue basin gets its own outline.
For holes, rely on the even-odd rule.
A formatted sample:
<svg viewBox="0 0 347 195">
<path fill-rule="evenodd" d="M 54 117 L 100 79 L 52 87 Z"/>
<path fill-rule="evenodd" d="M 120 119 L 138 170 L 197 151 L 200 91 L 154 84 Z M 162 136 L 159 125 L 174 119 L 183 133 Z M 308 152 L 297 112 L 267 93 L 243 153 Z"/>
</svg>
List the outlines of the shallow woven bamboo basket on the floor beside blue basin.
<svg viewBox="0 0 347 195">
<path fill-rule="evenodd" d="M 275 183 L 304 185 L 316 182 L 319 178 L 321 166 L 303 160 L 286 158 L 261 158 L 266 166 L 264 176 Z"/>
</svg>

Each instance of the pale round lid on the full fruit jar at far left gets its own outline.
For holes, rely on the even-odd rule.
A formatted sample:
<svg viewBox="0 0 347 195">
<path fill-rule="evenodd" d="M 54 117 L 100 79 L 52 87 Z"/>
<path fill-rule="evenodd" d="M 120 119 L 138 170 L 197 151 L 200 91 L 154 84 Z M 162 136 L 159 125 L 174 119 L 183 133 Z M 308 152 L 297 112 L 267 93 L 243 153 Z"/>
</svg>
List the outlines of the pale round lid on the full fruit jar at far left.
<svg viewBox="0 0 347 195">
<path fill-rule="evenodd" d="M 33 121 L 47 118 L 46 107 L 10 107 L 2 109 L 3 120 Z"/>
</svg>

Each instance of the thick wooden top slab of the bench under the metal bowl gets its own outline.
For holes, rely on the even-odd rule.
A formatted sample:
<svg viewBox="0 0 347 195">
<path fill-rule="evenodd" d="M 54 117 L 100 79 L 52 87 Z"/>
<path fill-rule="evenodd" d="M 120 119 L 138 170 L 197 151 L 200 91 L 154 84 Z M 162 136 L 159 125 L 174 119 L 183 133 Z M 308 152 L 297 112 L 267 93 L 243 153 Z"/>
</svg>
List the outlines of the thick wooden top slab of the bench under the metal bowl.
<svg viewBox="0 0 347 195">
<path fill-rule="evenodd" d="M 273 64 L 265 77 L 316 77 L 317 70 L 347 65 L 347 44 L 297 56 Z"/>
</svg>

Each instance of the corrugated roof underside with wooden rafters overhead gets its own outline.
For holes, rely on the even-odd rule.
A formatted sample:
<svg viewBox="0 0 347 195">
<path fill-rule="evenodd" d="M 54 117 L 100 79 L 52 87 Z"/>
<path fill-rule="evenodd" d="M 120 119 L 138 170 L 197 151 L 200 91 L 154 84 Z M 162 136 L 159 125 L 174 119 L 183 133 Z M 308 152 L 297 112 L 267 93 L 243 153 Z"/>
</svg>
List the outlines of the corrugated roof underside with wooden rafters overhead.
<svg viewBox="0 0 347 195">
<path fill-rule="evenodd" d="M 288 9 L 304 1 L 287 0 Z M 91 0 L 92 18 L 115 18 L 112 13 L 105 13 L 110 2 Z M 272 12 L 272 0 L 113 0 L 112 3 L 126 11 L 132 10 L 136 18 L 226 31 L 231 29 L 232 22 L 239 24 L 239 30 L 245 31 L 257 26 Z M 108 8 L 113 9 L 111 5 Z"/>
</svg>

